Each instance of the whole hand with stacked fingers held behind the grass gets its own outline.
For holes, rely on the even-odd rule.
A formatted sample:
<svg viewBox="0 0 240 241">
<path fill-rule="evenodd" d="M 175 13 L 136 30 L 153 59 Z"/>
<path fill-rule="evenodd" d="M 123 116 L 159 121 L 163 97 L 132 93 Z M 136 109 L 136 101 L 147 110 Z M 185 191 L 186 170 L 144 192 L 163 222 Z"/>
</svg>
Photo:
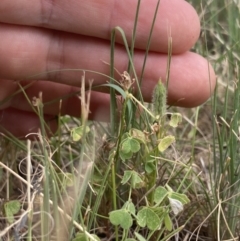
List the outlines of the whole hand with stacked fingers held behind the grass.
<svg viewBox="0 0 240 241">
<path fill-rule="evenodd" d="M 145 46 L 157 0 L 141 1 L 134 52 L 134 66 L 140 76 Z M 82 71 L 86 69 L 109 75 L 111 30 L 120 26 L 131 43 L 137 0 L 1 0 L 0 1 L 0 128 L 23 137 L 36 132 L 38 117 L 23 94 L 6 98 L 26 86 L 30 100 L 42 92 L 43 101 L 50 102 L 79 91 Z M 212 94 L 216 77 L 203 57 L 189 52 L 200 33 L 195 10 L 183 0 L 161 0 L 150 52 L 143 76 L 142 93 L 151 100 L 152 90 L 159 78 L 164 82 L 167 68 L 169 36 L 172 37 L 172 61 L 168 103 L 194 107 Z M 123 73 L 128 58 L 120 34 L 117 33 L 115 68 Z M 35 75 L 35 77 L 33 76 Z M 116 74 L 117 78 L 118 74 Z M 106 83 L 107 77 L 86 72 L 86 85 Z M 120 77 L 119 77 L 120 79 Z M 19 80 L 24 80 L 19 82 Z M 46 104 L 45 119 L 54 131 L 54 116 L 79 116 L 78 96 Z M 107 121 L 109 95 L 94 89 L 91 93 L 90 118 Z"/>
</svg>

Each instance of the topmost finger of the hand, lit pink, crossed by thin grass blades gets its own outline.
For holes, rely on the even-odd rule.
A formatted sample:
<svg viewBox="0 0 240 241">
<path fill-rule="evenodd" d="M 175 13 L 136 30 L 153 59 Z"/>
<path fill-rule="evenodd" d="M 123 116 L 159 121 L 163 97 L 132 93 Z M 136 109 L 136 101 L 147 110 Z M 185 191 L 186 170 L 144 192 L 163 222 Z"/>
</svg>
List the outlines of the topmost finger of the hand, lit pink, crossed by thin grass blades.
<svg viewBox="0 0 240 241">
<path fill-rule="evenodd" d="M 111 30 L 120 26 L 130 43 L 137 3 L 137 0 L 1 0 L 0 22 L 57 29 L 107 40 Z M 136 48 L 146 48 L 156 6 L 157 0 L 141 1 Z M 183 0 L 161 0 L 151 50 L 166 53 L 171 36 L 173 52 L 185 52 L 196 42 L 199 32 L 199 18 L 190 4 Z M 120 36 L 117 41 L 122 42 Z"/>
</svg>

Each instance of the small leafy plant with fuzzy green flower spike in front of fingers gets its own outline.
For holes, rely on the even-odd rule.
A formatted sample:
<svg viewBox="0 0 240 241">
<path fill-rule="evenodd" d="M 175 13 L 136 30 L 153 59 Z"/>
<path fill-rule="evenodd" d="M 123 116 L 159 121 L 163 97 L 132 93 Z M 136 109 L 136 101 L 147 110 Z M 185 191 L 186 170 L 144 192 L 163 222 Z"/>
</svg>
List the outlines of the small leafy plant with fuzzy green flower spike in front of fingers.
<svg viewBox="0 0 240 241">
<path fill-rule="evenodd" d="M 159 157 L 175 142 L 175 137 L 168 134 L 168 129 L 176 128 L 182 116 L 179 113 L 167 113 L 166 87 L 160 80 L 153 91 L 151 110 L 129 92 L 135 80 L 126 71 L 121 77 L 120 86 L 125 93 L 120 123 L 121 138 L 111 150 L 110 159 L 120 160 L 120 165 L 126 167 L 118 185 L 123 189 L 127 186 L 128 199 L 120 209 L 109 212 L 109 220 L 122 228 L 122 240 L 148 240 L 156 235 L 155 232 L 161 238 L 166 231 L 168 235 L 165 238 L 169 238 L 181 229 L 173 227 L 172 218 L 183 210 L 189 199 L 185 194 L 174 191 L 168 184 L 157 186 L 157 170 Z M 132 104 L 140 107 L 141 115 L 145 112 L 149 116 L 150 123 L 143 129 L 141 125 L 140 128 L 133 128 L 126 123 L 125 113 L 131 112 Z M 170 115 L 169 121 L 166 120 L 167 115 Z M 141 166 L 141 172 L 134 165 Z M 143 197 L 144 202 L 141 202 L 145 205 L 136 208 L 132 194 L 141 188 L 148 190 L 148 194 Z M 135 238 L 128 238 L 133 224 Z M 147 237 L 142 236 L 143 229 L 147 230 Z"/>
</svg>

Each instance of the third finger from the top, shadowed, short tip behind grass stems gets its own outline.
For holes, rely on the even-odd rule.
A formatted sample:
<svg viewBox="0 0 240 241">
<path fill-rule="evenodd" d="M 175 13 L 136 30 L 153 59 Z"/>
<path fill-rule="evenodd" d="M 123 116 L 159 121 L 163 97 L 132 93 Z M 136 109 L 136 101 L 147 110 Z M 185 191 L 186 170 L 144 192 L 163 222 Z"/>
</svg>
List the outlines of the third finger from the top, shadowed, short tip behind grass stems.
<svg viewBox="0 0 240 241">
<path fill-rule="evenodd" d="M 16 82 L 12 82 L 12 84 L 15 86 Z M 2 80 L 0 80 L 0 85 L 3 89 L 6 89 L 7 87 L 4 86 L 4 81 Z M 24 93 L 23 91 L 17 95 L 14 95 L 14 92 L 10 93 L 13 96 L 8 98 L 8 102 L 4 102 L 0 95 L 0 102 L 4 102 L 3 108 L 0 105 L 0 109 L 4 109 L 8 106 L 23 112 L 34 112 L 36 111 L 36 108 L 33 107 L 33 98 L 38 98 L 39 93 L 41 93 L 41 98 L 44 104 L 44 114 L 51 116 L 66 114 L 75 117 L 81 116 L 79 88 L 46 81 L 32 82 L 31 85 L 29 85 L 29 82 L 24 82 L 21 83 L 21 85 L 22 88 L 24 88 Z M 86 92 L 86 101 L 87 98 L 88 92 Z M 109 95 L 92 91 L 90 94 L 89 111 L 89 119 L 109 121 Z"/>
</svg>

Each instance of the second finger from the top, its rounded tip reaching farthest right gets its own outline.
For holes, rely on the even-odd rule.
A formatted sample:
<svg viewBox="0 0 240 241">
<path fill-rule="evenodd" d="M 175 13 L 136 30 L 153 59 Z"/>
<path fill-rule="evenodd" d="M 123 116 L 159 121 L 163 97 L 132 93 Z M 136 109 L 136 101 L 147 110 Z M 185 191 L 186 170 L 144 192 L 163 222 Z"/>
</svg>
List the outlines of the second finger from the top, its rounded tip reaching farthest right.
<svg viewBox="0 0 240 241">
<path fill-rule="evenodd" d="M 2 30 L 2 31 L 1 31 Z M 93 79 L 93 85 L 108 81 L 110 63 L 109 43 L 96 39 L 57 32 L 55 36 L 33 28 L 3 26 L 0 29 L 0 77 L 25 79 L 38 75 L 41 79 L 62 84 L 81 86 L 82 71 L 61 71 L 62 69 L 85 69 L 86 80 Z M 14 36 L 16 34 L 16 36 Z M 37 41 L 36 41 L 37 40 Z M 9 42 L 11 47 L 9 48 Z M 143 78 L 143 96 L 151 100 L 152 90 L 159 78 L 166 81 L 167 56 L 149 53 Z M 140 76 L 144 51 L 134 53 L 134 67 Z M 122 46 L 115 48 L 115 67 L 119 72 L 127 69 L 128 58 Z M 54 72 L 49 72 L 57 70 Z M 105 74 L 103 76 L 102 74 Z M 36 78 L 36 76 L 34 76 Z M 117 76 L 118 78 L 118 76 Z M 214 71 L 208 62 L 194 53 L 173 55 L 170 67 L 169 103 L 180 106 L 195 106 L 206 101 L 215 87 Z M 191 91 L 189 91 L 191 90 Z M 181 99 L 181 101 L 179 101 Z"/>
</svg>

